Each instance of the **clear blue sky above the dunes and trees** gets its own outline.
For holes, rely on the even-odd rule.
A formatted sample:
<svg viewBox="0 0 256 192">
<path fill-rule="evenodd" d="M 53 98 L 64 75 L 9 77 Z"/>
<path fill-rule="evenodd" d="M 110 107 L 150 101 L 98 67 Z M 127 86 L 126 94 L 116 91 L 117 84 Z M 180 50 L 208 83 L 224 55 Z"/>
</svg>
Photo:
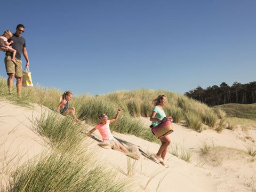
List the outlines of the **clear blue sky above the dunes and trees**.
<svg viewBox="0 0 256 192">
<path fill-rule="evenodd" d="M 25 25 L 34 84 L 76 95 L 140 88 L 183 94 L 256 80 L 255 0 L 5 3 L 0 32 Z M 3 52 L 0 60 L 7 77 Z"/>
</svg>

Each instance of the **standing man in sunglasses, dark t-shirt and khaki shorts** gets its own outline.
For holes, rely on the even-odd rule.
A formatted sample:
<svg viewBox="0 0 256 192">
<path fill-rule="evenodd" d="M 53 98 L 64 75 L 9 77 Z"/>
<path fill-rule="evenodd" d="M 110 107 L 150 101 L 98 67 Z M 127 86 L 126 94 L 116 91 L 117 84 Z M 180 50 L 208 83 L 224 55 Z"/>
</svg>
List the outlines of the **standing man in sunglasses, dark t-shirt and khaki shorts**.
<svg viewBox="0 0 256 192">
<path fill-rule="evenodd" d="M 16 88 L 18 96 L 21 97 L 21 87 L 22 87 L 22 61 L 21 61 L 21 53 L 25 57 L 27 64 L 26 67 L 29 66 L 29 59 L 28 53 L 26 50 L 26 40 L 25 38 L 21 37 L 21 34 L 24 33 L 25 27 L 22 24 L 19 24 L 16 27 L 16 32 L 13 36 L 9 39 L 9 41 L 13 41 L 12 48 L 17 51 L 15 61 L 17 64 L 12 62 L 12 53 L 6 52 L 4 58 L 4 64 L 6 73 L 8 75 L 7 85 L 9 89 L 9 93 L 12 94 L 12 84 L 14 77 L 16 78 Z"/>
</svg>

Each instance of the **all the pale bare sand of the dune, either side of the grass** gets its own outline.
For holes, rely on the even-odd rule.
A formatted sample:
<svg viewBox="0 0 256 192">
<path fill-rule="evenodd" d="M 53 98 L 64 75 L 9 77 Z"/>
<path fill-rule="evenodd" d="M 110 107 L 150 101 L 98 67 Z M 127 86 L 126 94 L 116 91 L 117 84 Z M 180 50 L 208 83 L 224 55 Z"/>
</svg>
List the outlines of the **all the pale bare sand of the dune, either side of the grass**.
<svg viewBox="0 0 256 192">
<path fill-rule="evenodd" d="M 31 119 L 39 117 L 41 111 L 42 107 L 38 105 L 28 109 L 0 100 L 1 185 L 5 185 L 10 170 L 49 148 L 30 129 Z M 141 119 L 150 124 L 148 118 Z M 101 139 L 97 131 L 93 135 Z M 172 144 L 183 147 L 193 155 L 187 163 L 168 153 L 166 164 L 170 167 L 167 169 L 150 158 L 150 154 L 157 152 L 158 144 L 133 135 L 114 133 L 114 137 L 124 145 L 138 149 L 140 159 L 135 161 L 119 151 L 103 149 L 93 138 L 88 138 L 86 142 L 90 142 L 89 148 L 97 154 L 95 162 L 117 170 L 121 178 L 131 178 L 134 191 L 256 191 L 255 158 L 246 153 L 245 147 L 254 145 L 256 130 L 223 130 L 220 133 L 206 130 L 197 133 L 174 124 L 174 132 L 170 134 Z M 203 155 L 199 153 L 203 143 L 216 148 Z M 135 162 L 134 173 L 130 177 L 126 175 L 127 161 Z"/>
</svg>

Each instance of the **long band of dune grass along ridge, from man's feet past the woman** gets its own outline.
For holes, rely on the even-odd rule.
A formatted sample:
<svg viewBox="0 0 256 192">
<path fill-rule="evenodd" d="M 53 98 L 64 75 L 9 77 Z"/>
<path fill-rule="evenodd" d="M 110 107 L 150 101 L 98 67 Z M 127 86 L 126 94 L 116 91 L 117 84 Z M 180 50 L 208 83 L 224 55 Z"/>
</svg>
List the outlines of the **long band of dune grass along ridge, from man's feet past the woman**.
<svg viewBox="0 0 256 192">
<path fill-rule="evenodd" d="M 0 79 L 0 89 L 1 91 L 3 90 L 2 94 L 0 94 L 2 98 L 16 100 L 18 102 L 39 103 L 52 110 L 57 110 L 57 105 L 62 94 L 60 90 L 53 88 L 45 89 L 41 86 L 25 87 L 22 89 L 22 99 L 17 99 L 15 94 L 13 94 L 12 97 L 7 94 L 5 78 Z M 137 128 L 131 128 L 130 125 L 126 126 L 126 124 L 123 124 L 121 127 L 117 123 L 117 125 L 113 127 L 114 131 L 118 130 L 122 131 L 122 133 L 134 134 L 140 137 L 140 135 L 144 135 L 144 133 L 141 134 L 139 130 L 143 130 L 145 127 L 141 127 L 137 119 L 134 120 L 129 117 L 149 117 L 153 109 L 151 101 L 160 94 L 166 95 L 167 102 L 164 106 L 164 110 L 167 116 L 173 117 L 174 123 L 185 121 L 190 129 L 194 129 L 198 132 L 203 131 L 203 126 L 201 126 L 203 124 L 212 127 L 212 129 L 214 129 L 214 126 L 217 126 L 220 111 L 214 111 L 201 102 L 165 90 L 154 91 L 140 89 L 134 91 L 117 91 L 106 95 L 97 95 L 97 97 L 81 95 L 71 100 L 70 107 L 75 107 L 77 116 L 85 119 L 86 122 L 91 125 L 98 123 L 100 114 L 107 113 L 109 117 L 113 118 L 115 117 L 116 108 L 122 108 L 124 114 L 122 122 L 129 124 L 134 121 L 132 124 L 136 125 Z M 126 129 L 127 131 L 125 131 Z"/>
</svg>

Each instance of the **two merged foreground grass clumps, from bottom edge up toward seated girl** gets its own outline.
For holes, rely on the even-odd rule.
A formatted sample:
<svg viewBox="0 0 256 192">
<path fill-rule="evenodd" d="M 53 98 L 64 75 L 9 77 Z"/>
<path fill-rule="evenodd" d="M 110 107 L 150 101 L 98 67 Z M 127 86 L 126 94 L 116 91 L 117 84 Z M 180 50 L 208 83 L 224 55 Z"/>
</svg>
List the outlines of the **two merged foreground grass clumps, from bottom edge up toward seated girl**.
<svg viewBox="0 0 256 192">
<path fill-rule="evenodd" d="M 130 181 L 95 163 L 81 134 L 84 127 L 72 118 L 43 111 L 31 122 L 52 151 L 12 172 L 1 191 L 131 191 Z"/>
</svg>

